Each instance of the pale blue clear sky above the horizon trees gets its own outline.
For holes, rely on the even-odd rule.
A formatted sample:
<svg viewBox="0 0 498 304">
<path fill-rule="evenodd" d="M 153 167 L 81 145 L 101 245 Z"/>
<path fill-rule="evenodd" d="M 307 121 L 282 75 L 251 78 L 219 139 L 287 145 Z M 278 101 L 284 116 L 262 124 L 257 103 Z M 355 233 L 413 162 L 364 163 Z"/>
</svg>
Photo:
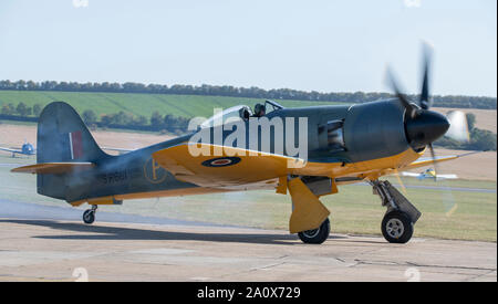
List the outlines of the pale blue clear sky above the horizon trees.
<svg viewBox="0 0 498 304">
<path fill-rule="evenodd" d="M 1 0 L 0 80 L 497 96 L 496 0 Z"/>
</svg>

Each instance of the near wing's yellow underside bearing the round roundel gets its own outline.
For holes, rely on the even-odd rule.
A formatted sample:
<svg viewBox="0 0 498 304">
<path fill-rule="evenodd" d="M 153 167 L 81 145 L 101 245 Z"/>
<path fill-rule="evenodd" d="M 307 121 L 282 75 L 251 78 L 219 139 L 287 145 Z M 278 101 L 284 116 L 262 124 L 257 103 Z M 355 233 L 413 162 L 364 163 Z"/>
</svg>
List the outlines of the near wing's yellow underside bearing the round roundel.
<svg viewBox="0 0 498 304">
<path fill-rule="evenodd" d="M 210 156 L 193 156 L 189 144 L 153 154 L 177 179 L 201 187 L 229 187 L 270 180 L 287 175 L 326 176 L 341 163 L 305 163 L 302 159 L 247 149 L 197 144 Z M 216 155 L 216 156 L 215 156 Z"/>
</svg>

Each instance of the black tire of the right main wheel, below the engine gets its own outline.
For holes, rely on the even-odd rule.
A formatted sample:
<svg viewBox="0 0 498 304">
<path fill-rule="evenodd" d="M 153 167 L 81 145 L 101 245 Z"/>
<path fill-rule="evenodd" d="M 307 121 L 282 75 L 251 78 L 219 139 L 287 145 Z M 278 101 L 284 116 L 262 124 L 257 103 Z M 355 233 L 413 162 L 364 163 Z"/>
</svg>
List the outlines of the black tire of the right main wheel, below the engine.
<svg viewBox="0 0 498 304">
<path fill-rule="evenodd" d="M 404 244 L 412 239 L 413 223 L 402 211 L 391 211 L 382 220 L 382 235 L 390 243 Z"/>
</svg>

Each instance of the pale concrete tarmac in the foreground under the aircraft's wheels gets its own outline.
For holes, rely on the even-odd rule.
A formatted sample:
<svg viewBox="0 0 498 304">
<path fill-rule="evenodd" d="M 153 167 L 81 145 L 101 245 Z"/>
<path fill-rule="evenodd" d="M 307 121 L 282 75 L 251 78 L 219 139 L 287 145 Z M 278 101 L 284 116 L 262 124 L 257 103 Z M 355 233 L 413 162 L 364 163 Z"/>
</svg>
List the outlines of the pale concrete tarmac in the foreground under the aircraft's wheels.
<svg viewBox="0 0 498 304">
<path fill-rule="evenodd" d="M 23 206 L 27 219 L 0 213 L 0 281 L 497 281 L 496 243 L 332 233 L 310 245 L 279 230 L 134 216 L 102 222 L 112 220 L 104 212 L 84 226 L 51 208 Z"/>
</svg>

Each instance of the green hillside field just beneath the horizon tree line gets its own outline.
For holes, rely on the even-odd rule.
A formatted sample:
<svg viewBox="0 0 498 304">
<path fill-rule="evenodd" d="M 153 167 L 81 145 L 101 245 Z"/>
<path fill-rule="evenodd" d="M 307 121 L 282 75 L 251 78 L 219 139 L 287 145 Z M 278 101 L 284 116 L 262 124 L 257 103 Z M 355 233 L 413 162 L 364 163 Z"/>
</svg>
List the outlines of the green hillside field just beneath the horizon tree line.
<svg viewBox="0 0 498 304">
<path fill-rule="evenodd" d="M 181 117 L 210 117 L 212 108 L 227 108 L 239 104 L 253 106 L 264 102 L 256 98 L 198 96 L 198 95 L 165 95 L 165 94 L 126 94 L 126 93 L 77 93 L 77 92 L 31 92 L 31 91 L 0 91 L 0 107 L 12 103 L 23 102 L 28 106 L 63 101 L 72 105 L 80 114 L 85 109 L 93 109 L 97 115 L 113 114 L 123 111 L 135 116 L 151 117 L 154 111 Z M 338 105 L 330 102 L 278 101 L 286 107 Z"/>
</svg>

